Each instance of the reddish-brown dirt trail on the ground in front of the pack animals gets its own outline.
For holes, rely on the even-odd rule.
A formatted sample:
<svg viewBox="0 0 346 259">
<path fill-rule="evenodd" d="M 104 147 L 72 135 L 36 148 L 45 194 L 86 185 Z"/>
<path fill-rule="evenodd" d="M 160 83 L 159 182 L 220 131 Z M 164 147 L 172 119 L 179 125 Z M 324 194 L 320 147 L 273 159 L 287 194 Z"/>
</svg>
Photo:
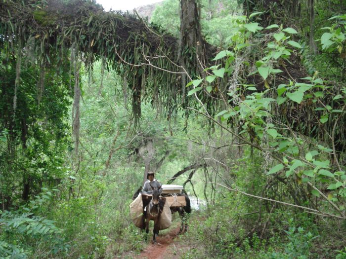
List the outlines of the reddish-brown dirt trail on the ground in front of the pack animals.
<svg viewBox="0 0 346 259">
<path fill-rule="evenodd" d="M 173 259 L 175 258 L 172 251 L 174 238 L 177 237 L 179 227 L 172 229 L 169 233 L 159 235 L 156 238 L 157 244 L 149 244 L 135 259 Z"/>
</svg>

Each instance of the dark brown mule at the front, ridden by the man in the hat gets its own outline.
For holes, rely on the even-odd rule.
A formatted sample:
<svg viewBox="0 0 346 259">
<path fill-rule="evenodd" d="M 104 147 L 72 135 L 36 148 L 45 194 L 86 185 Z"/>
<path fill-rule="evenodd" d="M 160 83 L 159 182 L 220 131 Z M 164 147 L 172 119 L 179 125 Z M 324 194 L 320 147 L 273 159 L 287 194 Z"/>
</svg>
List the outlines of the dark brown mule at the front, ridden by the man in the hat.
<svg viewBox="0 0 346 259">
<path fill-rule="evenodd" d="M 149 204 L 146 205 L 146 211 L 144 213 L 144 220 L 145 224 L 143 226 L 143 229 L 145 227 L 145 232 L 148 234 L 149 233 L 149 222 L 154 221 L 154 230 L 153 230 L 153 242 L 156 243 L 156 237 L 159 235 L 159 224 L 160 224 L 160 215 L 164 209 L 166 198 L 165 197 L 160 197 L 159 191 L 157 188 L 154 188 L 151 186 L 153 189 L 153 194 L 151 196 Z M 142 195 L 145 197 L 145 195 Z M 150 196 L 147 196 L 150 197 Z M 147 199 L 147 198 L 144 198 Z M 143 199 L 143 203 L 144 203 Z"/>
</svg>

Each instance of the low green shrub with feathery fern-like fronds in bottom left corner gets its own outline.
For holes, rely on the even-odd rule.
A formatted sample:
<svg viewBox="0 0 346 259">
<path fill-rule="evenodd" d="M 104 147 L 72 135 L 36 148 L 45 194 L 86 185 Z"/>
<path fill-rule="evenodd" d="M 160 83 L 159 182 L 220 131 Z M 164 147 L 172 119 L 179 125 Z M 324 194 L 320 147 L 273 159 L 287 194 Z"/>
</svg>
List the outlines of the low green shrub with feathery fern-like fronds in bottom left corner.
<svg viewBox="0 0 346 259">
<path fill-rule="evenodd" d="M 51 192 L 45 192 L 28 207 L 1 214 L 0 237 L 5 241 L 0 242 L 0 258 L 47 258 L 68 251 L 69 245 L 62 237 L 63 230 L 53 221 L 32 212 L 51 196 Z"/>
</svg>

